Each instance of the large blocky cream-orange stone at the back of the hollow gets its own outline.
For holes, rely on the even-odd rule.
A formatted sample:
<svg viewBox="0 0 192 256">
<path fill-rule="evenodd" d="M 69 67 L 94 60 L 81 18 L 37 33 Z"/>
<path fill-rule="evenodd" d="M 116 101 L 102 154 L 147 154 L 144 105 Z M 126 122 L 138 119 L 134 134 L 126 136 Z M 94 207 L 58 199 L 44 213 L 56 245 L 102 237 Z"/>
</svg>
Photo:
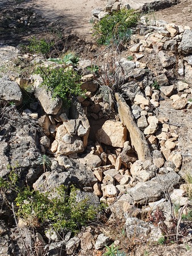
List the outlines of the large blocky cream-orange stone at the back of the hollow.
<svg viewBox="0 0 192 256">
<path fill-rule="evenodd" d="M 106 121 L 96 134 L 97 140 L 113 147 L 123 147 L 127 139 L 127 129 L 122 122 Z"/>
</svg>

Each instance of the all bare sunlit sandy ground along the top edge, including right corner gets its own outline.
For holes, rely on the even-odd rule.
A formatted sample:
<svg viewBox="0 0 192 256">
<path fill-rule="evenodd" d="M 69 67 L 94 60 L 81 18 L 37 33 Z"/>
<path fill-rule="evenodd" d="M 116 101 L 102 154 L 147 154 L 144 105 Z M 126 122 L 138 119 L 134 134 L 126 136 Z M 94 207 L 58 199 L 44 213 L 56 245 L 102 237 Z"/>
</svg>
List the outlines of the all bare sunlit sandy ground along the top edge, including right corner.
<svg viewBox="0 0 192 256">
<path fill-rule="evenodd" d="M 1 0 L 0 0 L 1 1 Z M 130 6 L 138 8 L 145 2 L 153 0 L 128 1 Z M 21 4 L 31 6 L 48 22 L 59 22 L 66 32 L 72 32 L 84 39 L 91 39 L 91 10 L 105 7 L 107 0 L 28 0 Z M 155 19 L 163 19 L 170 23 L 185 24 L 192 27 L 192 0 L 181 0 L 181 3 L 168 9 L 153 13 Z"/>
</svg>

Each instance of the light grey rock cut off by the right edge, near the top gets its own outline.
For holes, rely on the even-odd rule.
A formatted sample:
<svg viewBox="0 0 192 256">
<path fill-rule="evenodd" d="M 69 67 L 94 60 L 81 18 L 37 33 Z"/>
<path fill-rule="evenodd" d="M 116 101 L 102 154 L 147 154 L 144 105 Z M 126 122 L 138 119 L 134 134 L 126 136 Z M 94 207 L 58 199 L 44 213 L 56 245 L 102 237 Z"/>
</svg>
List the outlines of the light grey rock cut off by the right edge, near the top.
<svg viewBox="0 0 192 256">
<path fill-rule="evenodd" d="M 180 46 L 178 46 L 178 51 L 184 54 L 192 53 L 192 31 L 191 30 L 184 31 Z"/>
</svg>

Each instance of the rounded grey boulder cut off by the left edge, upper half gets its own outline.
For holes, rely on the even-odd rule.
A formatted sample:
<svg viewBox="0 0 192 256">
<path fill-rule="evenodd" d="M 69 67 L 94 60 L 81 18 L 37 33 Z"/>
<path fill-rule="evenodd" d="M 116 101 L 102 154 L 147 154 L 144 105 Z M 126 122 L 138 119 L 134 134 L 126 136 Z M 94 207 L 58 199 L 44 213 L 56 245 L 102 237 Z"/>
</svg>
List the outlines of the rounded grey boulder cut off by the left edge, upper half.
<svg viewBox="0 0 192 256">
<path fill-rule="evenodd" d="M 0 98 L 8 102 L 14 102 L 16 106 L 22 104 L 23 96 L 19 85 L 11 81 L 8 76 L 0 78 Z"/>
</svg>

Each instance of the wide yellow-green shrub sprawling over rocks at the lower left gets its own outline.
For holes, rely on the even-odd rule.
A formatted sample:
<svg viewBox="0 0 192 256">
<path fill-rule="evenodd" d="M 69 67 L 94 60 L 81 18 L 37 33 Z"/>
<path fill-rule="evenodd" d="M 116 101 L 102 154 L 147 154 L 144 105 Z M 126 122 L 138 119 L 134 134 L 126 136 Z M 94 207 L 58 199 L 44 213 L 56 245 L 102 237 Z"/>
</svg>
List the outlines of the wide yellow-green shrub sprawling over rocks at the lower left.
<svg viewBox="0 0 192 256">
<path fill-rule="evenodd" d="M 57 196 L 50 198 L 50 192 L 30 191 L 27 187 L 15 199 L 18 208 L 16 215 L 30 225 L 47 224 L 57 231 L 64 229 L 74 233 L 97 216 L 99 209 L 89 205 L 88 199 L 77 202 L 77 189 L 73 185 L 69 196 L 64 185 L 56 188 L 55 193 Z"/>
</svg>

